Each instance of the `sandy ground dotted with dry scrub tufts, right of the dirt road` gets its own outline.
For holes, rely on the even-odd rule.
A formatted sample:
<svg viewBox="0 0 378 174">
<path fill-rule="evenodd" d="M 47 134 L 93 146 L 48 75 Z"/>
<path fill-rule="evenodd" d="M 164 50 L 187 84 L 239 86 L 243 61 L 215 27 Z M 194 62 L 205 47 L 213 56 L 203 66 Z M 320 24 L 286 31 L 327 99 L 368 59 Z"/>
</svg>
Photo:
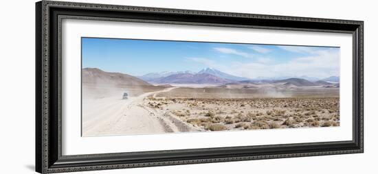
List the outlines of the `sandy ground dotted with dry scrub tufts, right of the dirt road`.
<svg viewBox="0 0 378 174">
<path fill-rule="evenodd" d="M 148 98 L 151 108 L 208 131 L 330 127 L 340 125 L 338 97 Z"/>
</svg>

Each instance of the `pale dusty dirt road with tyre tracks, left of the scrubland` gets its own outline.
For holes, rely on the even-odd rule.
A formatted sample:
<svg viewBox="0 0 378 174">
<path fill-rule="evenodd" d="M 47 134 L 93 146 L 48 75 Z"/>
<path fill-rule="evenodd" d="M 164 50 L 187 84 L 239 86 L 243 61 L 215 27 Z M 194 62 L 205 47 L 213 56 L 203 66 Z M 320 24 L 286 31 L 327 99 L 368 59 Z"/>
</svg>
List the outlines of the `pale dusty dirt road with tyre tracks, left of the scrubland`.
<svg viewBox="0 0 378 174">
<path fill-rule="evenodd" d="M 112 97 L 86 97 L 82 101 L 82 136 L 191 131 L 191 125 L 181 123 L 169 114 L 148 108 L 144 103 L 146 97 L 154 97 L 160 92 L 168 92 L 174 88 L 176 87 L 146 92 L 129 99 L 121 99 L 121 92 L 118 92 L 120 95 Z"/>
</svg>

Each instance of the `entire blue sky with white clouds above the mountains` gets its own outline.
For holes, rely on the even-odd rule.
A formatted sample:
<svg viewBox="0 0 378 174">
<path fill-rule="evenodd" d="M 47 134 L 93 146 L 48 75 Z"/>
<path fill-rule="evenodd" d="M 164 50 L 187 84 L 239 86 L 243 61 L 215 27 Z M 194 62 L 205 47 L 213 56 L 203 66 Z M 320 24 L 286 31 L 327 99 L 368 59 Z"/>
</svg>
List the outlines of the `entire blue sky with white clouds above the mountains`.
<svg viewBox="0 0 378 174">
<path fill-rule="evenodd" d="M 82 38 L 82 67 L 129 75 L 212 67 L 241 77 L 339 76 L 340 48 Z"/>
</svg>

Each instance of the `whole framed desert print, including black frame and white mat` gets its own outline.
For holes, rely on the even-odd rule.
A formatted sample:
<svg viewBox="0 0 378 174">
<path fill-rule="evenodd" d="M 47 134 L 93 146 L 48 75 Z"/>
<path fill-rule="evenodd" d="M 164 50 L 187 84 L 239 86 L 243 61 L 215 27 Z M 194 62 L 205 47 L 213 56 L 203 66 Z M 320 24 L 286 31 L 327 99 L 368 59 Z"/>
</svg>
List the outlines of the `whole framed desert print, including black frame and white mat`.
<svg viewBox="0 0 378 174">
<path fill-rule="evenodd" d="M 39 1 L 36 171 L 362 153 L 363 22 Z"/>
</svg>

